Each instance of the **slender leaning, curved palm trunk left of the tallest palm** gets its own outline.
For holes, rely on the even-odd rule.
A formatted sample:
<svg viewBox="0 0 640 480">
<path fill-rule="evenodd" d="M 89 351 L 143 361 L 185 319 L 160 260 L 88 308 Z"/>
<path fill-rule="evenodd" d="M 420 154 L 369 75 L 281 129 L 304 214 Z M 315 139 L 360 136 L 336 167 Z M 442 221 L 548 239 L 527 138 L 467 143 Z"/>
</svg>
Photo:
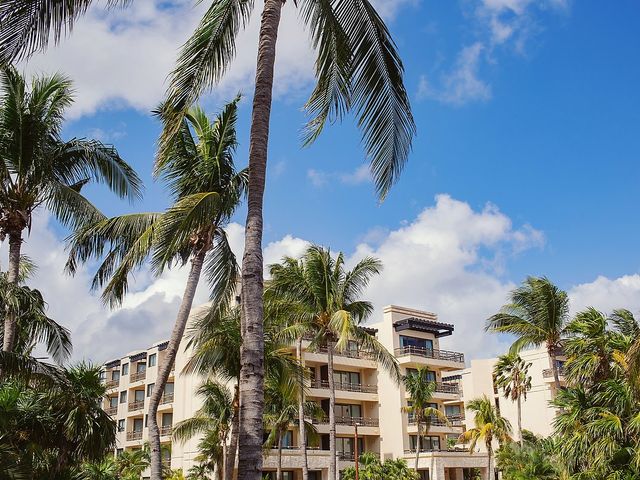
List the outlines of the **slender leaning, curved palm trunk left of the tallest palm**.
<svg viewBox="0 0 640 480">
<path fill-rule="evenodd" d="M 149 444 L 151 447 L 151 480 L 162 480 L 162 455 L 160 452 L 160 429 L 158 428 L 158 405 L 160 405 L 160 399 L 164 393 L 164 387 L 167 384 L 169 373 L 173 368 L 173 364 L 176 360 L 176 354 L 184 334 L 184 329 L 187 326 L 189 320 L 189 313 L 191 312 L 191 306 L 193 305 L 193 297 L 196 294 L 198 288 L 198 281 L 200 280 L 200 273 L 202 272 L 202 264 L 205 257 L 204 250 L 198 252 L 191 260 L 191 270 L 187 277 L 187 285 L 184 289 L 184 295 L 182 297 L 182 303 L 178 310 L 176 317 L 176 323 L 173 326 L 173 332 L 171 332 L 171 338 L 169 344 L 165 350 L 165 358 L 162 364 L 158 367 L 158 377 L 153 387 L 153 393 L 149 399 Z"/>
</svg>

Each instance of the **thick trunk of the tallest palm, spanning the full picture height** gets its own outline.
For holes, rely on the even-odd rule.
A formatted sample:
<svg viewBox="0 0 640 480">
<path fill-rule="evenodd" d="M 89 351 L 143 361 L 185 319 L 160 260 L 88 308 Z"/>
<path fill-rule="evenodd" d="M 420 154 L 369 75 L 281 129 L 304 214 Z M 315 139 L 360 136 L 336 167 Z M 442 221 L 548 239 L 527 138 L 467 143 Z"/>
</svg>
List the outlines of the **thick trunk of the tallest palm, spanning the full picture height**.
<svg viewBox="0 0 640 480">
<path fill-rule="evenodd" d="M 256 65 L 249 137 L 249 187 L 242 258 L 242 350 L 240 361 L 240 480 L 262 476 L 264 411 L 262 203 L 267 170 L 273 70 L 282 0 L 265 0 Z"/>
</svg>

